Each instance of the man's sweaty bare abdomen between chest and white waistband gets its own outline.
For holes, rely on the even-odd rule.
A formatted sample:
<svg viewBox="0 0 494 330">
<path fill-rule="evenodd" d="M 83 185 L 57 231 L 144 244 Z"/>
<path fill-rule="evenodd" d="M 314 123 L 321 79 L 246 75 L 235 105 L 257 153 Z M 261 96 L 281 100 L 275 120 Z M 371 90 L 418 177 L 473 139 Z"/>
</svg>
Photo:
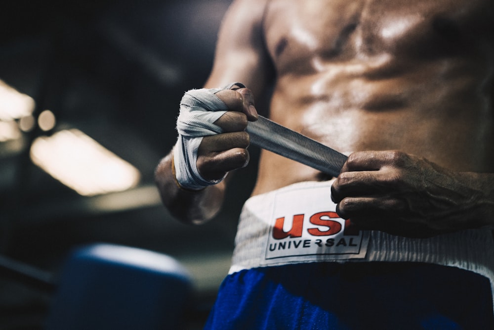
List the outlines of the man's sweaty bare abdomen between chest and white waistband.
<svg viewBox="0 0 494 330">
<path fill-rule="evenodd" d="M 492 171 L 494 134 L 491 105 L 486 102 L 490 95 L 476 92 L 478 77 L 452 72 L 445 80 L 444 72 L 438 72 L 444 67 L 437 63 L 376 77 L 365 70 L 349 73 L 337 65 L 306 75 L 280 76 L 271 119 L 347 155 L 401 150 L 456 171 Z M 262 150 L 252 195 L 328 179 Z"/>
</svg>

